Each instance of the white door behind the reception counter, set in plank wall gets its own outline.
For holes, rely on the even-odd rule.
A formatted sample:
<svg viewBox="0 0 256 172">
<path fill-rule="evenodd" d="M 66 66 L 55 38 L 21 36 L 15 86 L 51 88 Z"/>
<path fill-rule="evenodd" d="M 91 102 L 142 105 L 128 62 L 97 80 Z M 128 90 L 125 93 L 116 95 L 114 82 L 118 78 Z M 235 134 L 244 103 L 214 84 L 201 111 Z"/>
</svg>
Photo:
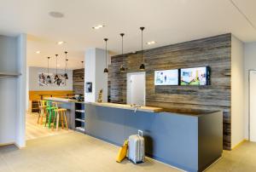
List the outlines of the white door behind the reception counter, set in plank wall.
<svg viewBox="0 0 256 172">
<path fill-rule="evenodd" d="M 145 72 L 127 73 L 127 104 L 145 106 Z"/>
</svg>

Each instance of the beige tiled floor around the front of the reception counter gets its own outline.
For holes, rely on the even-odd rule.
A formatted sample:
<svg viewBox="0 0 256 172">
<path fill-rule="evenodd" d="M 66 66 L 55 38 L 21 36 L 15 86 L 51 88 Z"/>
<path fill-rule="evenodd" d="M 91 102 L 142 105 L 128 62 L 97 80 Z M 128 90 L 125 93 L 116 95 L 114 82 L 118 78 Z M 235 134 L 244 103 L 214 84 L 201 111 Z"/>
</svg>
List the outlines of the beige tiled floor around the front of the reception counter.
<svg viewBox="0 0 256 172">
<path fill-rule="evenodd" d="M 119 147 L 76 132 L 27 140 L 21 150 L 0 146 L 0 172 L 168 172 L 179 171 L 147 159 L 134 165 L 116 163 Z M 210 172 L 256 171 L 256 143 L 244 142 L 207 169 Z"/>
</svg>

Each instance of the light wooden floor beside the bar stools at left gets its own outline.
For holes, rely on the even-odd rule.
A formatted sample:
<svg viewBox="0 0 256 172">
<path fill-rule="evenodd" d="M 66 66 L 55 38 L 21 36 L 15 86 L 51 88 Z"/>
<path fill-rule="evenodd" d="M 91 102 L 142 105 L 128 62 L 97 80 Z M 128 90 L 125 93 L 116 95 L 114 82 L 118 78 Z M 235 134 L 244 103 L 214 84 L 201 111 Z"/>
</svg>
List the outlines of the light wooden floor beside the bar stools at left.
<svg viewBox="0 0 256 172">
<path fill-rule="evenodd" d="M 27 113 L 26 114 L 26 140 L 32 140 L 40 137 L 50 136 L 50 135 L 62 135 L 73 132 L 72 130 L 59 129 L 52 130 L 38 124 L 38 114 L 37 113 Z"/>
</svg>

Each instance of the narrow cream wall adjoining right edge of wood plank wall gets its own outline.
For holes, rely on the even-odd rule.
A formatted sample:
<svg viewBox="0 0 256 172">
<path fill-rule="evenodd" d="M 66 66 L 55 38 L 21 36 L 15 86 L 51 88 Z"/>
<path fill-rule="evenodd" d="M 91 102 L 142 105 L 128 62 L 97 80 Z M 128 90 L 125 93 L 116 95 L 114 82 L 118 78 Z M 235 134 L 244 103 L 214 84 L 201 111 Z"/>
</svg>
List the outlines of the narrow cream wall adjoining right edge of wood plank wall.
<svg viewBox="0 0 256 172">
<path fill-rule="evenodd" d="M 244 140 L 244 46 L 231 38 L 231 147 Z"/>
</svg>

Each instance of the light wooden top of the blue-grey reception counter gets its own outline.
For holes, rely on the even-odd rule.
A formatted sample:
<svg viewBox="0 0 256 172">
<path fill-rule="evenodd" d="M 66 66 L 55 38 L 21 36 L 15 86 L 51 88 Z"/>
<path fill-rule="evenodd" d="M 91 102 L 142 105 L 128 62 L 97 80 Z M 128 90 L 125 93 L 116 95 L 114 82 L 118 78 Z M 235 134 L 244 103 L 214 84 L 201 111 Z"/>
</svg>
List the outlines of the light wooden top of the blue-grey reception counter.
<svg viewBox="0 0 256 172">
<path fill-rule="evenodd" d="M 117 103 L 96 103 L 96 102 L 84 102 L 90 105 L 95 106 L 106 106 L 106 107 L 113 107 L 119 109 L 128 109 L 128 110 L 135 110 L 135 106 L 126 105 L 126 104 L 117 104 Z M 139 112 L 162 112 L 163 109 L 160 107 L 151 107 L 151 106 L 140 106 L 137 108 Z"/>
</svg>

